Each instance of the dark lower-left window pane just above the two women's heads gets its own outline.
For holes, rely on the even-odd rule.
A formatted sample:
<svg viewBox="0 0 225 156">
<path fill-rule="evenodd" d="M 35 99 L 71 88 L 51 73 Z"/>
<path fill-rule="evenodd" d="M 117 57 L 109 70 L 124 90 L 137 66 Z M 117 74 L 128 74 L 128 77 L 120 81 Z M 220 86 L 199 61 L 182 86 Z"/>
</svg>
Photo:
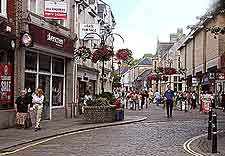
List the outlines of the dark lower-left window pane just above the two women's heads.
<svg viewBox="0 0 225 156">
<path fill-rule="evenodd" d="M 25 88 L 34 92 L 36 89 L 36 74 L 25 73 Z"/>
</svg>

